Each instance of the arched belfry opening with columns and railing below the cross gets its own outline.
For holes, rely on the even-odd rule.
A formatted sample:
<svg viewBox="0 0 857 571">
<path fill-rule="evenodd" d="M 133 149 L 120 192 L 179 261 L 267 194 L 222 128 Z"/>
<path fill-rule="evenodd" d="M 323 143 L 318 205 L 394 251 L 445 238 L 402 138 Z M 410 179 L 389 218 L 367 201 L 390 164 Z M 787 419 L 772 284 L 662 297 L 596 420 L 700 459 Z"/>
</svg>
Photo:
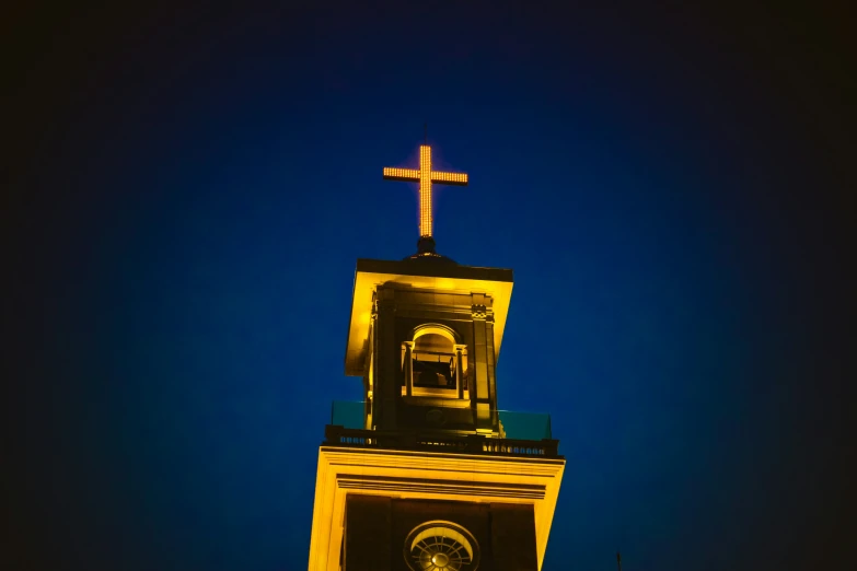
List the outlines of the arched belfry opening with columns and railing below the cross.
<svg viewBox="0 0 857 571">
<path fill-rule="evenodd" d="M 402 347 L 403 394 L 462 398 L 466 351 L 458 334 L 442 325 L 426 324 L 414 329 L 410 338 Z"/>
</svg>

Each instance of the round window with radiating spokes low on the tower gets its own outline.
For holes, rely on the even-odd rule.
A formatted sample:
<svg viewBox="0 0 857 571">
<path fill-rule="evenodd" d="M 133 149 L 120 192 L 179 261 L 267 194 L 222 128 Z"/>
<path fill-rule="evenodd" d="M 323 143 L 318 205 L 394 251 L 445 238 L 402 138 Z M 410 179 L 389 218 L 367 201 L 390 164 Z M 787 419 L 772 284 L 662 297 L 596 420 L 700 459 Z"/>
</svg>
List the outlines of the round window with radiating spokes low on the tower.
<svg viewBox="0 0 857 571">
<path fill-rule="evenodd" d="M 473 535 L 458 524 L 426 522 L 405 539 L 405 561 L 414 571 L 476 571 L 479 546 Z"/>
</svg>

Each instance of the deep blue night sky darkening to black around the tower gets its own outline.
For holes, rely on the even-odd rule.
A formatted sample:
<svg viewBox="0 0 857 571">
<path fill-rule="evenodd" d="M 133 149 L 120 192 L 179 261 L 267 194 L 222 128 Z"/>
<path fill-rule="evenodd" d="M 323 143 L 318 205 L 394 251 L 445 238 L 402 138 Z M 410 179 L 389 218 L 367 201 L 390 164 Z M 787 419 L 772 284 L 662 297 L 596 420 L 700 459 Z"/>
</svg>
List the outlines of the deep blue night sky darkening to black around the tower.
<svg viewBox="0 0 857 571">
<path fill-rule="evenodd" d="M 500 406 L 568 462 L 544 569 L 842 569 L 846 14 L 324 4 L 3 24 L 4 569 L 305 569 L 424 123 L 471 176 L 439 252 L 514 270 Z"/>
</svg>

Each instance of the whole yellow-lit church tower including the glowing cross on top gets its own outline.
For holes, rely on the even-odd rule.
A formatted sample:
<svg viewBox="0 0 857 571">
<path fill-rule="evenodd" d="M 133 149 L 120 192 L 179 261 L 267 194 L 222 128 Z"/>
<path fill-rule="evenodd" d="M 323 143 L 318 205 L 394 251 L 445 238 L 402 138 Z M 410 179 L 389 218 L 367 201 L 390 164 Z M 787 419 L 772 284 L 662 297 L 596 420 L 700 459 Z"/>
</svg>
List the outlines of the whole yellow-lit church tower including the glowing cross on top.
<svg viewBox="0 0 857 571">
<path fill-rule="evenodd" d="M 433 184 L 467 175 L 384 168 L 419 183 L 417 253 L 358 259 L 345 373 L 319 451 L 310 571 L 535 571 L 565 459 L 546 415 L 499 410 L 496 363 L 512 270 L 435 250 Z M 519 348 L 524 350 L 525 348 Z"/>
</svg>

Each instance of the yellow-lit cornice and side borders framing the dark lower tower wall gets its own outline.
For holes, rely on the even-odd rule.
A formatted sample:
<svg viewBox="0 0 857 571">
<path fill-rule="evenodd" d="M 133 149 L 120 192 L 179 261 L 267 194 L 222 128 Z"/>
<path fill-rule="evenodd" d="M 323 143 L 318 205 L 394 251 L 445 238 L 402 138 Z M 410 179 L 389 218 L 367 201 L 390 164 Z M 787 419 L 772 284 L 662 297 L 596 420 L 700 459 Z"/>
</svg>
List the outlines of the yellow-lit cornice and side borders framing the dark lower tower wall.
<svg viewBox="0 0 857 571">
<path fill-rule="evenodd" d="M 565 466 L 566 461 L 561 457 L 323 445 L 319 448 L 308 569 L 341 569 L 345 504 L 349 493 L 390 497 L 389 490 L 395 489 L 395 497 L 403 500 L 532 505 L 537 569 L 541 570 Z M 430 524 L 427 528 L 441 526 L 436 526 L 436 522 L 426 523 Z M 438 532 L 449 536 L 449 525 L 442 527 L 445 529 Z M 421 531 L 417 529 L 417 533 Z M 468 553 L 477 553 L 473 545 L 475 539 L 466 533 L 453 538 L 462 545 L 471 544 Z M 467 544 L 461 539 L 466 539 Z M 412 541 L 405 544 L 408 550 L 415 546 Z"/>
</svg>

